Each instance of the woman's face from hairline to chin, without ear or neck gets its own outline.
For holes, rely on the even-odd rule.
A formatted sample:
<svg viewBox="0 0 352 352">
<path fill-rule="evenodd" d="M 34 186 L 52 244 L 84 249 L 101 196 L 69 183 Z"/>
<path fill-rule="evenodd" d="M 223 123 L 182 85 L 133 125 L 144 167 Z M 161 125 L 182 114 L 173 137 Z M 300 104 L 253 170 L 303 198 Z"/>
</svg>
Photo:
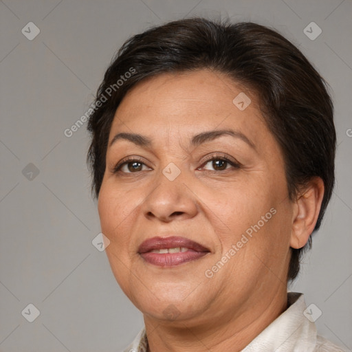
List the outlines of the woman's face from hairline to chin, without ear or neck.
<svg viewBox="0 0 352 352">
<path fill-rule="evenodd" d="M 98 211 L 113 274 L 147 318 L 250 319 L 287 292 L 283 156 L 244 93 L 248 107 L 218 72 L 162 74 L 115 113 Z"/>
</svg>

